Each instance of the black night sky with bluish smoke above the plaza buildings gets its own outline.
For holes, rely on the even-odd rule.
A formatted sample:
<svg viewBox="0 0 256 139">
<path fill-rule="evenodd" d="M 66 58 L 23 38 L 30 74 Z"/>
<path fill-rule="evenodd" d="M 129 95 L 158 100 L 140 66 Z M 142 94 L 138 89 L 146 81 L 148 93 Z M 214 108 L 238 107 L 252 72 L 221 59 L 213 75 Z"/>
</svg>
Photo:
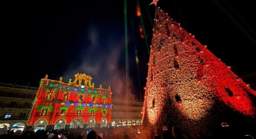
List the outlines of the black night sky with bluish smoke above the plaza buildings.
<svg viewBox="0 0 256 139">
<path fill-rule="evenodd" d="M 130 97 L 140 99 L 149 56 L 145 39 L 140 37 L 137 2 L 127 1 Z M 62 76 L 67 83 L 79 72 L 91 75 L 94 87 L 111 86 L 113 96 L 126 96 L 124 1 L 36 2 L 2 5 L 0 81 L 38 87 L 46 74 L 54 80 Z M 148 6 L 151 0 L 139 2 L 150 45 L 156 7 Z M 158 6 L 234 73 L 256 72 L 256 10 L 252 1 L 160 0 Z"/>
</svg>

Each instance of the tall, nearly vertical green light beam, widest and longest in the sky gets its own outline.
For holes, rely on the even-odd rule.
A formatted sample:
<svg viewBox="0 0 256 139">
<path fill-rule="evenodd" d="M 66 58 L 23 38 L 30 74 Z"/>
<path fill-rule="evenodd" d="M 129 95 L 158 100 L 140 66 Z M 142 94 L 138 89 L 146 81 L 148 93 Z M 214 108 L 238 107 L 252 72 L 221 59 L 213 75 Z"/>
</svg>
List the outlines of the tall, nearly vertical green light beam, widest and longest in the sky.
<svg viewBox="0 0 256 139">
<path fill-rule="evenodd" d="M 124 43 L 125 43 L 125 67 L 126 67 L 126 99 L 129 93 L 129 61 L 128 61 L 128 27 L 127 27 L 127 1 L 124 0 Z M 126 101 L 126 114 L 128 117 L 128 101 Z"/>
</svg>

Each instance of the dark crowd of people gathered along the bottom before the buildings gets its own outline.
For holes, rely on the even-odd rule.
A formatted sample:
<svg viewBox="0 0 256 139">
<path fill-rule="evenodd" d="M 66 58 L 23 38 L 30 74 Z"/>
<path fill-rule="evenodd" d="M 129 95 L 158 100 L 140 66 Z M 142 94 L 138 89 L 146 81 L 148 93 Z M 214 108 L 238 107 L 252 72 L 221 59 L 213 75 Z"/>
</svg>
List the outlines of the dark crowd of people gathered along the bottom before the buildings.
<svg viewBox="0 0 256 139">
<path fill-rule="evenodd" d="M 140 126 L 96 127 L 57 130 L 37 130 L 30 127 L 27 131 L 7 130 L 4 127 L 0 132 L 0 139 L 137 139 Z"/>
</svg>

